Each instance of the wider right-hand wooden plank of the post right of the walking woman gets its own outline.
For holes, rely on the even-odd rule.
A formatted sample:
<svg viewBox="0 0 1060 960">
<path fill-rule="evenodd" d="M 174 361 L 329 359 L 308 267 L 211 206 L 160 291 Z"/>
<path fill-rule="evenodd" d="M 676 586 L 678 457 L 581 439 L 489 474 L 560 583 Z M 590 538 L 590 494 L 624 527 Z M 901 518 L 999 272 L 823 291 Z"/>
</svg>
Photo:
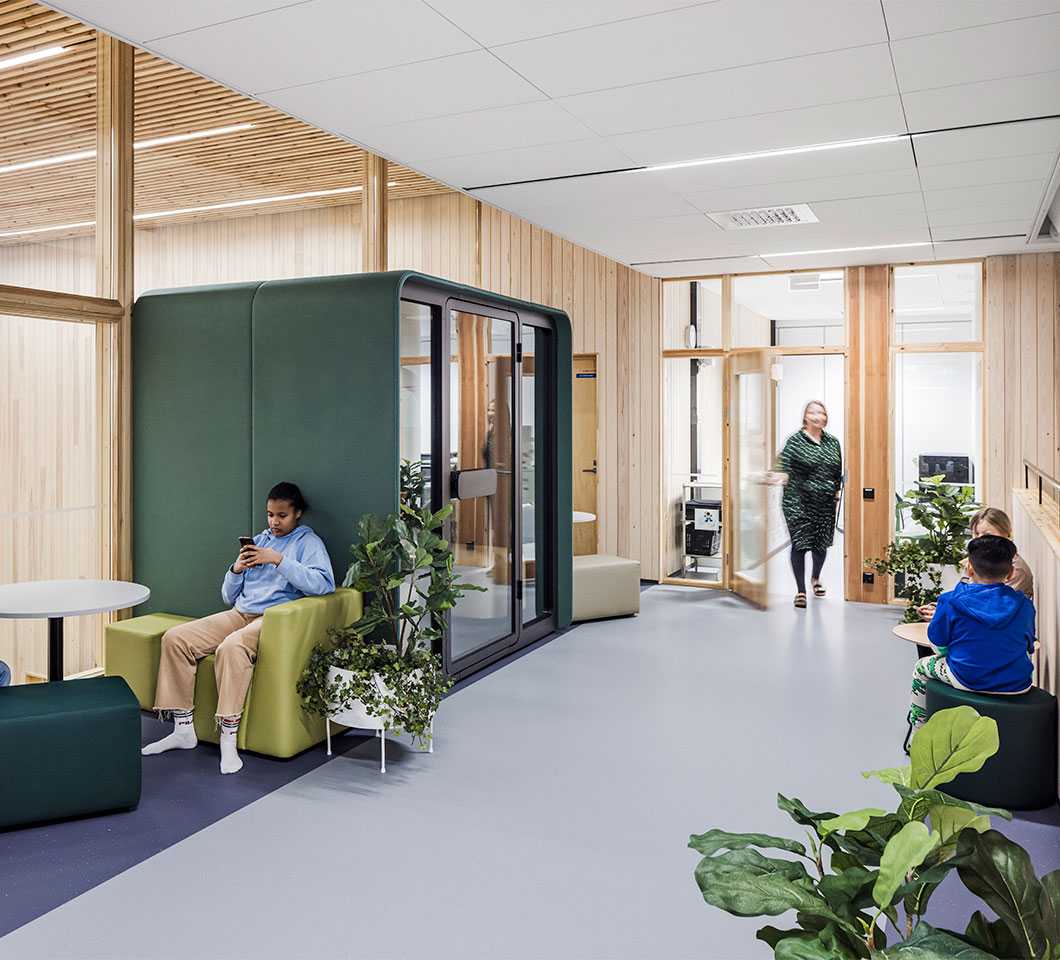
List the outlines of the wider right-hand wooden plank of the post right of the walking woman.
<svg viewBox="0 0 1060 960">
<path fill-rule="evenodd" d="M 862 318 L 862 486 L 876 491 L 862 503 L 862 553 L 866 559 L 882 556 L 894 530 L 894 485 L 890 476 L 890 437 L 894 416 L 890 401 L 890 267 L 863 268 Z M 882 442 L 881 442 L 882 441 Z M 886 603 L 888 584 L 878 576 L 863 585 L 862 600 Z"/>
</svg>

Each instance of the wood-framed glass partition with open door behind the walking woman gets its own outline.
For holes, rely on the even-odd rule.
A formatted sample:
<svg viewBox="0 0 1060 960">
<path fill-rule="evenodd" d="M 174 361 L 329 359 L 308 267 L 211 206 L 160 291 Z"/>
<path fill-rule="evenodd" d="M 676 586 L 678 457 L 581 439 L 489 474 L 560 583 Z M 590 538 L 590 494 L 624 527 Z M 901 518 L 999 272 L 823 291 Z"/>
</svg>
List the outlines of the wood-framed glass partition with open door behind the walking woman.
<svg viewBox="0 0 1060 960">
<path fill-rule="evenodd" d="M 783 487 L 768 474 L 811 401 L 846 445 L 845 286 L 841 269 L 664 285 L 669 582 L 738 589 L 758 603 L 788 592 Z M 838 595 L 842 530 L 822 579 Z"/>
</svg>

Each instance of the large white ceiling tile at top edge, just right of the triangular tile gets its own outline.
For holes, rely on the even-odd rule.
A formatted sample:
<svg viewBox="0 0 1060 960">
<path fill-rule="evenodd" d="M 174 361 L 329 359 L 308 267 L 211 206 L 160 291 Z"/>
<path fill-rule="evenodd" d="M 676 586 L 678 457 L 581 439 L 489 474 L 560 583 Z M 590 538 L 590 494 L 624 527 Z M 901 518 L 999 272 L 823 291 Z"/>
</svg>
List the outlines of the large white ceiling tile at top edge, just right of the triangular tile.
<svg viewBox="0 0 1060 960">
<path fill-rule="evenodd" d="M 494 48 L 550 96 L 885 42 L 876 0 L 718 0 Z M 732 91 L 729 91 L 731 93 Z"/>
</svg>

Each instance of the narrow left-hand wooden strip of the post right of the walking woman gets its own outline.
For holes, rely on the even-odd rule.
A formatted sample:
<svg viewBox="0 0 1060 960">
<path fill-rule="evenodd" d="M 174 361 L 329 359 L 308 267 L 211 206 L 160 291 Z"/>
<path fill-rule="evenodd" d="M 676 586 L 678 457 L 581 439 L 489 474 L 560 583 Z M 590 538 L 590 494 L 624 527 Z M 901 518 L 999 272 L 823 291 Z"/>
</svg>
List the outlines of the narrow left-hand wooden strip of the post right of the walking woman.
<svg viewBox="0 0 1060 960">
<path fill-rule="evenodd" d="M 855 429 L 862 423 L 862 287 L 865 270 L 854 267 L 846 271 L 847 345 L 846 413 L 847 468 L 846 504 L 844 506 L 844 581 L 846 599 L 861 600 L 864 585 L 865 554 L 862 550 L 862 444 L 863 432 Z"/>
</svg>

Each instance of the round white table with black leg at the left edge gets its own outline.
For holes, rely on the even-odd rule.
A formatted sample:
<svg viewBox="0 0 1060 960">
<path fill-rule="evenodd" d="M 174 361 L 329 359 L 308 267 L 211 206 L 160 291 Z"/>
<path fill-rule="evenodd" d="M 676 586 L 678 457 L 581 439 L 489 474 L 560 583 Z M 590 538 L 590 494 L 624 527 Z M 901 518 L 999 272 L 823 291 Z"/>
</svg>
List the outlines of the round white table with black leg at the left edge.
<svg viewBox="0 0 1060 960">
<path fill-rule="evenodd" d="M 135 607 L 151 597 L 122 580 L 37 580 L 0 584 L 0 620 L 48 621 L 48 679 L 61 680 L 63 618 Z"/>
</svg>

